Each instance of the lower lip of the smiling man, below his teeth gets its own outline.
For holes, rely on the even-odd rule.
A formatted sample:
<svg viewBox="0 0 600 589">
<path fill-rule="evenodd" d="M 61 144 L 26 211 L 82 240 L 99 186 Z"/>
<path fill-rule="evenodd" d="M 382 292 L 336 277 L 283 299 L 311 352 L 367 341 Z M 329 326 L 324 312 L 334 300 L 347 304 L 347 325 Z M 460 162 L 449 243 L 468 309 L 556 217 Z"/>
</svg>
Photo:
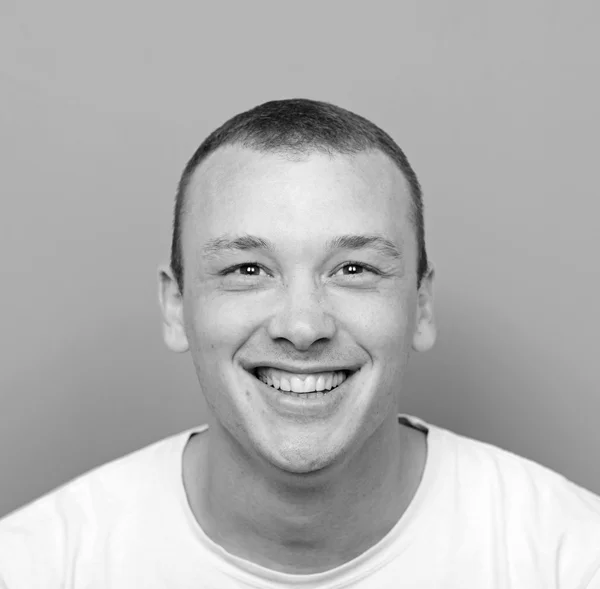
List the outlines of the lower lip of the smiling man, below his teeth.
<svg viewBox="0 0 600 589">
<path fill-rule="evenodd" d="M 267 403 L 278 413 L 288 413 L 294 416 L 324 418 L 336 411 L 347 394 L 349 381 L 353 381 L 359 370 L 349 375 L 346 380 L 322 395 L 314 397 L 307 395 L 291 395 L 292 391 L 282 391 L 268 384 L 250 373 L 261 391 Z"/>
</svg>

